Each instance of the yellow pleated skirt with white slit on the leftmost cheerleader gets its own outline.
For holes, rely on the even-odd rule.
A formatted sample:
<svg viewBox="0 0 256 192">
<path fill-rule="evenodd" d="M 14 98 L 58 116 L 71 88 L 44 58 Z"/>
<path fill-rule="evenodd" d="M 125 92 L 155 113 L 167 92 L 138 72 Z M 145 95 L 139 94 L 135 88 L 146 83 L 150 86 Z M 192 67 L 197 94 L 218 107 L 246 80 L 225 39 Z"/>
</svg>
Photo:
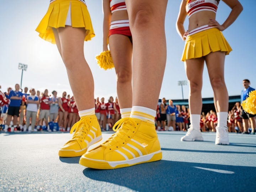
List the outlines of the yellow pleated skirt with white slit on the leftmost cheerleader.
<svg viewBox="0 0 256 192">
<path fill-rule="evenodd" d="M 71 26 L 85 28 L 85 41 L 89 41 L 95 36 L 91 17 L 85 3 L 80 0 L 55 0 L 50 3 L 46 15 L 36 28 L 39 37 L 56 44 L 52 28 L 65 27 L 69 6 L 71 6 Z"/>
</svg>

